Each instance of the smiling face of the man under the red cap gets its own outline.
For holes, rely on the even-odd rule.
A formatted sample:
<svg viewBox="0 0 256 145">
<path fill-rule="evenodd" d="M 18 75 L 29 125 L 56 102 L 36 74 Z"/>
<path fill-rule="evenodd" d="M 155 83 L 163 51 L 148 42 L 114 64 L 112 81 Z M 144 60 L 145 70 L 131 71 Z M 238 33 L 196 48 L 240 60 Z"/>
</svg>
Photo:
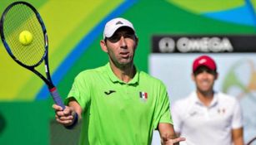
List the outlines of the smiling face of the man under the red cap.
<svg viewBox="0 0 256 145">
<path fill-rule="evenodd" d="M 198 91 L 208 93 L 213 91 L 214 81 L 217 79 L 218 74 L 214 70 L 209 70 L 205 66 L 200 66 L 198 70 L 193 73 L 192 77 Z"/>
</svg>

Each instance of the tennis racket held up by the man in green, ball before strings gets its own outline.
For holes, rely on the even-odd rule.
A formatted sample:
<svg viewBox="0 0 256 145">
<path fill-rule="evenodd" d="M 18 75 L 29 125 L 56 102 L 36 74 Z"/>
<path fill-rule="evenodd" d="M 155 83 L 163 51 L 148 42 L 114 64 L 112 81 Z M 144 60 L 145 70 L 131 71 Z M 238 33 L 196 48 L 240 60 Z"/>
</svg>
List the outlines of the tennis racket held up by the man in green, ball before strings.
<svg viewBox="0 0 256 145">
<path fill-rule="evenodd" d="M 3 12 L 0 33 L 8 54 L 19 65 L 38 75 L 53 96 L 55 104 L 65 105 L 51 79 L 48 65 L 48 35 L 40 14 L 28 2 L 13 2 Z M 44 61 L 45 76 L 35 68 Z"/>
</svg>

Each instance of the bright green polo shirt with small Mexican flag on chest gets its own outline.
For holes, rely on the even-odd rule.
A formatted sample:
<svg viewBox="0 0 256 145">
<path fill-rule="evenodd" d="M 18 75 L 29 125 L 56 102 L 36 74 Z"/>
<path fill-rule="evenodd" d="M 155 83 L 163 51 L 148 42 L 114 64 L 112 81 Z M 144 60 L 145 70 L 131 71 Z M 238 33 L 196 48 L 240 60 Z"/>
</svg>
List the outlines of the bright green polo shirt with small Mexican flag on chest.
<svg viewBox="0 0 256 145">
<path fill-rule="evenodd" d="M 151 144 L 158 123 L 173 123 L 165 86 L 143 71 L 137 70 L 125 83 L 109 63 L 84 70 L 75 78 L 69 97 L 83 108 L 81 145 Z"/>
</svg>

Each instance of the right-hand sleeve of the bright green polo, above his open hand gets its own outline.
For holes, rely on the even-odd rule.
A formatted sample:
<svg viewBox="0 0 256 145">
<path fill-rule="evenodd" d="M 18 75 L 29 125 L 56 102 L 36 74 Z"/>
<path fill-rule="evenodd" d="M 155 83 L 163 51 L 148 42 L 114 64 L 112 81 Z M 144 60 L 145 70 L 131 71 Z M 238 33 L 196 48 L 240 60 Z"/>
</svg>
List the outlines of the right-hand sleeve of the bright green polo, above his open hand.
<svg viewBox="0 0 256 145">
<path fill-rule="evenodd" d="M 159 87 L 158 104 L 155 113 L 154 129 L 158 128 L 158 123 L 172 123 L 173 119 L 170 113 L 170 102 L 168 99 L 168 93 L 163 84 Z"/>
</svg>

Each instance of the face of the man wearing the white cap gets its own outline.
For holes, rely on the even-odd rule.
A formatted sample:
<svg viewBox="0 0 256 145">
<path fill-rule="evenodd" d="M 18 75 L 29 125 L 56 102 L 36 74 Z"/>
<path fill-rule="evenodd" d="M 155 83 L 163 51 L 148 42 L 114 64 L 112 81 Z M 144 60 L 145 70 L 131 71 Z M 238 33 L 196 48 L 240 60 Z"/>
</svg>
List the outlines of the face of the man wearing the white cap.
<svg viewBox="0 0 256 145">
<path fill-rule="evenodd" d="M 105 46 L 113 64 L 125 66 L 133 63 L 137 43 L 138 38 L 134 31 L 128 27 L 121 27 L 113 36 L 106 39 Z"/>
</svg>

